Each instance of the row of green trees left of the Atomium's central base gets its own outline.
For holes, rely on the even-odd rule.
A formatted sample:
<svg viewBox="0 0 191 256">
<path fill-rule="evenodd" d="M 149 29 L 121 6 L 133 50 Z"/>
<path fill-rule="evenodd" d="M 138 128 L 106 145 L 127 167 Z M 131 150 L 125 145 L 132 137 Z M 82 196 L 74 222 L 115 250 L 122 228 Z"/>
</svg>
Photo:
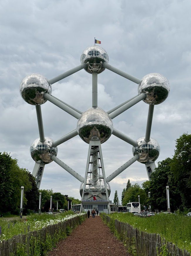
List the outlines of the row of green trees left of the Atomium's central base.
<svg viewBox="0 0 191 256">
<path fill-rule="evenodd" d="M 41 210 L 48 212 L 50 196 L 52 207 L 56 209 L 68 209 L 68 201 L 80 203 L 81 201 L 61 193 L 53 193 L 52 189 L 38 190 L 35 178 L 25 168 L 18 166 L 18 160 L 13 159 L 10 153 L 0 152 L 0 214 L 19 214 L 21 200 L 21 186 L 24 186 L 23 214 L 38 212 L 39 192 L 42 193 Z"/>
</svg>

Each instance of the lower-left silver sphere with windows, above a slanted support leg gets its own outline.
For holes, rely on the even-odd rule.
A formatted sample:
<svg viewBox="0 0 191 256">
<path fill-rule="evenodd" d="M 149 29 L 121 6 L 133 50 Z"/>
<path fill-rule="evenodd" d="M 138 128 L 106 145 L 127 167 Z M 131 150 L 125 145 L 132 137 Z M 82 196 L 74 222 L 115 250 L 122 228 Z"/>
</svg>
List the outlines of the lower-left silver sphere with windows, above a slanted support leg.
<svg viewBox="0 0 191 256">
<path fill-rule="evenodd" d="M 53 160 L 51 156 L 56 156 L 58 153 L 58 148 L 52 146 L 53 140 L 51 138 L 45 137 L 45 141 L 41 142 L 40 138 L 33 141 L 30 147 L 30 153 L 33 160 L 36 163 L 51 163 Z"/>
</svg>

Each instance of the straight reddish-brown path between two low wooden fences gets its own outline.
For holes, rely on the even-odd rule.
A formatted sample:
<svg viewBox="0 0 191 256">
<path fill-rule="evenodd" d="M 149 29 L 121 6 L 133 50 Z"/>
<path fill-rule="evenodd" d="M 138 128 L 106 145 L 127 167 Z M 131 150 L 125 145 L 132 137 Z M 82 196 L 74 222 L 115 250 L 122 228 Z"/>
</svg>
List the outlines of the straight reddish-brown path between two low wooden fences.
<svg viewBox="0 0 191 256">
<path fill-rule="evenodd" d="M 90 216 L 65 240 L 48 254 L 49 256 L 127 256 L 126 248 L 110 232 L 99 216 Z M 130 256 L 130 255 L 129 255 Z"/>
</svg>

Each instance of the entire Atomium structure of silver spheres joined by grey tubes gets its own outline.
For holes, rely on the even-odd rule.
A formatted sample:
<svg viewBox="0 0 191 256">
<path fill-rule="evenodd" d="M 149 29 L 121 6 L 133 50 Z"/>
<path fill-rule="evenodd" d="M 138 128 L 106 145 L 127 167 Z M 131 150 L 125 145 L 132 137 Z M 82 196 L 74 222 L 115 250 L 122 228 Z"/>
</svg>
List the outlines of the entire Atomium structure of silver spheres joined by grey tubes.
<svg viewBox="0 0 191 256">
<path fill-rule="evenodd" d="M 142 79 L 138 79 L 109 65 L 108 62 L 108 54 L 102 47 L 97 45 L 90 46 L 82 52 L 81 65 L 50 80 L 40 74 L 27 75 L 23 78 L 20 85 L 22 98 L 27 103 L 36 106 L 40 138 L 37 138 L 32 143 L 30 153 L 31 157 L 36 162 L 33 169 L 33 176 L 36 179 L 37 187 L 38 189 L 40 188 L 45 164 L 51 163 L 52 161 L 56 162 L 81 182 L 81 211 L 82 209 L 88 209 L 89 204 L 93 204 L 100 212 L 109 212 L 109 195 L 111 192 L 109 182 L 135 161 L 145 164 L 148 179 L 150 180 L 151 173 L 156 167 L 155 160 L 160 153 L 158 142 L 150 137 L 151 125 L 154 105 L 162 103 L 168 97 L 170 91 L 168 80 L 165 76 L 158 73 L 150 73 Z M 51 95 L 52 85 L 55 82 L 82 69 L 92 75 L 92 106 L 83 113 Z M 97 75 L 105 69 L 111 70 L 138 84 L 138 95 L 107 112 L 97 105 Z M 47 100 L 78 120 L 77 128 L 56 141 L 44 136 L 40 105 L 44 104 Z M 113 128 L 112 119 L 141 100 L 149 105 L 146 133 L 145 136 L 133 140 Z M 111 134 L 133 146 L 133 157 L 106 177 L 101 144 L 106 142 Z M 89 144 L 84 177 L 80 176 L 76 171 L 57 158 L 57 146 L 77 135 L 79 135 L 84 142 Z"/>
</svg>

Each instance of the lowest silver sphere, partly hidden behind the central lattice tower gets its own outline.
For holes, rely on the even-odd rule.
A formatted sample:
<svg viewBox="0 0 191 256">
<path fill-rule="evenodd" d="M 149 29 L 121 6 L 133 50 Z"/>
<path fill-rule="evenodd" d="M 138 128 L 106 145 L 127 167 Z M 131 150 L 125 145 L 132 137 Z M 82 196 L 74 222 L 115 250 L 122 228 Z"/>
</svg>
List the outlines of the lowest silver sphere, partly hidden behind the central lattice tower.
<svg viewBox="0 0 191 256">
<path fill-rule="evenodd" d="M 101 177 L 101 176 L 100 176 Z M 102 176 L 103 177 L 103 176 Z M 99 179 L 97 181 L 92 181 L 92 179 L 90 179 L 90 176 L 87 176 L 87 180 L 88 183 L 91 185 L 86 185 L 85 189 L 89 189 L 90 191 L 94 190 L 94 191 L 100 191 L 101 189 L 104 189 L 104 179 Z M 111 193 L 111 187 L 109 185 L 109 182 L 106 181 L 107 183 L 107 191 L 108 191 L 108 196 L 110 196 Z M 80 195 L 82 196 L 83 193 L 83 187 L 84 187 L 84 181 L 82 181 L 81 185 L 80 185 Z M 92 193 L 92 194 L 96 194 L 96 193 Z"/>
</svg>

